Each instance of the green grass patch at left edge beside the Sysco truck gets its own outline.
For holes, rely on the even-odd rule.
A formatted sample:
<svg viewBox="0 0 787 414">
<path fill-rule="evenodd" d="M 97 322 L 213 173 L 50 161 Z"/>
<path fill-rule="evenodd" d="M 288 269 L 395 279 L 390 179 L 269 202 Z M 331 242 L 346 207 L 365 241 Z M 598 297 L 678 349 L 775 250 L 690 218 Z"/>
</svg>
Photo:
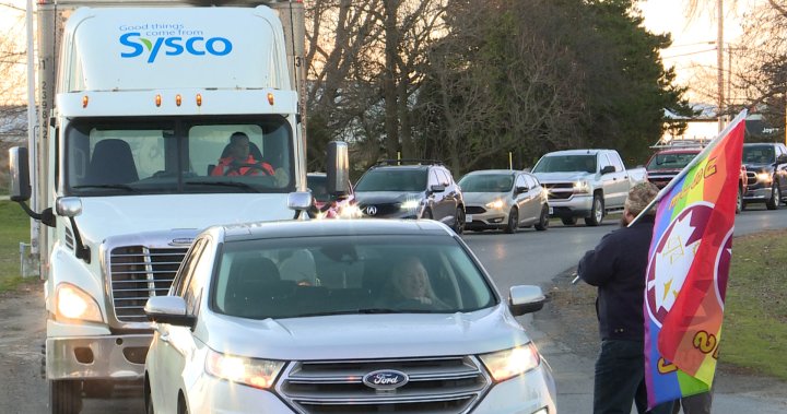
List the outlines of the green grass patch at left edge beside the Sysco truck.
<svg viewBox="0 0 787 414">
<path fill-rule="evenodd" d="M 38 277 L 22 279 L 20 241 L 30 241 L 30 218 L 11 201 L 0 201 L 0 293 L 14 291 L 20 285 L 38 282 Z"/>
</svg>

